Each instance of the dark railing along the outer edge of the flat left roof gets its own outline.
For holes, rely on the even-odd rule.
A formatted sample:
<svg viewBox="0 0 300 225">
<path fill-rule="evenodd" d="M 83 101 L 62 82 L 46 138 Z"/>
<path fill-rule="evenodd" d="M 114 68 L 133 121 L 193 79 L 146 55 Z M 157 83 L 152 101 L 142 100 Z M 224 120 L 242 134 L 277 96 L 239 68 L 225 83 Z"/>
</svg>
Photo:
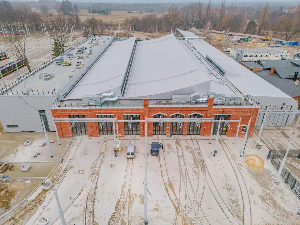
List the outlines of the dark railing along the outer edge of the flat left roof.
<svg viewBox="0 0 300 225">
<path fill-rule="evenodd" d="M 74 48 L 76 48 L 77 46 L 79 46 L 79 45 L 81 45 L 82 43 L 86 42 L 87 40 L 88 40 L 88 39 L 82 40 L 82 41 L 78 42 L 78 44 L 75 44 L 75 45 L 69 47 L 65 52 L 63 52 L 62 54 L 60 54 L 60 56 L 63 56 L 64 54 L 71 52 Z M 21 83 L 21 82 L 22 82 L 23 80 L 25 80 L 26 78 L 28 78 L 28 77 L 32 76 L 33 74 L 37 73 L 37 72 L 40 71 L 41 69 L 47 67 L 47 66 L 50 65 L 53 61 L 54 61 L 54 59 L 49 59 L 49 60 L 47 60 L 46 62 L 44 62 L 44 63 L 38 65 L 38 66 L 35 67 L 35 68 L 33 68 L 31 73 L 28 72 L 28 73 L 25 73 L 24 75 L 20 76 L 20 77 L 21 77 L 21 80 L 20 80 L 19 78 L 17 78 L 17 80 L 15 79 L 14 82 L 12 81 L 12 83 L 6 84 L 6 88 L 2 88 L 2 89 L 0 90 L 0 95 L 5 95 L 5 94 L 11 95 L 12 92 L 11 92 L 11 91 L 8 91 L 8 90 L 10 90 L 11 88 L 13 88 L 13 87 L 16 86 L 17 84 Z M 28 95 L 31 94 L 31 92 L 32 92 L 32 91 L 28 92 Z M 38 91 L 35 91 L 35 92 L 38 92 Z M 45 92 L 47 92 L 47 91 L 45 91 Z M 42 93 L 42 91 L 39 91 L 39 93 Z M 33 93 L 32 93 L 32 94 L 33 94 Z M 19 91 L 19 93 L 15 93 L 15 92 L 14 92 L 13 95 L 21 95 L 21 94 L 20 94 L 20 91 Z M 39 94 L 37 94 L 37 95 L 39 95 Z M 40 95 L 41 95 L 41 94 L 40 94 Z M 50 95 L 51 95 L 51 94 L 50 94 Z"/>
</svg>

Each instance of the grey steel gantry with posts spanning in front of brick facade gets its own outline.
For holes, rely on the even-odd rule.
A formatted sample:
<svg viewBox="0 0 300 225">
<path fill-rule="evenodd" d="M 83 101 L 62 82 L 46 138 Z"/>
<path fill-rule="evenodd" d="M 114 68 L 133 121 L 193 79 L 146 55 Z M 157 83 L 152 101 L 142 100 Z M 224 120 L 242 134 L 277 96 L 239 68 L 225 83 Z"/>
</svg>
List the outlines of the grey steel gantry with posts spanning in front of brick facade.
<svg viewBox="0 0 300 225">
<path fill-rule="evenodd" d="M 99 123 L 103 124 L 104 122 L 111 122 L 113 123 L 113 135 L 114 135 L 114 146 L 115 149 L 117 149 L 117 137 L 116 137 L 116 129 L 115 129 L 115 123 L 116 122 L 128 122 L 132 123 L 132 120 L 118 120 L 117 118 L 53 118 L 55 123 Z M 218 122 L 218 130 L 217 130 L 217 136 L 216 136 L 216 141 L 215 141 L 215 146 L 214 146 L 214 153 L 213 156 L 216 155 L 217 153 L 217 144 L 218 144 L 218 137 L 219 137 L 219 129 L 220 129 L 220 124 L 222 122 L 226 123 L 227 126 L 229 126 L 230 122 L 238 122 L 239 125 L 237 126 L 238 128 L 240 127 L 241 119 L 239 120 L 225 120 L 224 118 L 220 118 L 217 120 Z M 251 119 L 249 120 L 247 130 L 249 129 L 249 124 L 250 124 Z M 145 120 L 137 120 L 136 122 L 144 122 L 145 123 L 145 176 L 144 176 L 144 224 L 148 224 L 148 209 L 147 209 L 147 182 L 148 182 L 148 176 L 147 176 L 147 154 L 148 154 L 148 146 L 147 146 L 147 123 L 153 123 L 153 122 L 158 122 L 158 123 L 164 123 L 164 122 L 178 122 L 178 123 L 183 123 L 183 122 L 196 122 L 197 124 L 201 122 L 209 122 L 212 123 L 212 130 L 213 130 L 213 124 L 215 122 L 214 118 L 147 118 L 145 117 Z M 232 129 L 229 126 L 230 129 Z M 210 139 L 209 143 L 211 143 L 212 140 L 212 130 L 210 134 Z M 237 129 L 237 133 L 238 133 Z M 118 123 L 117 123 L 117 133 L 118 132 Z M 58 138 L 58 143 L 59 143 L 59 137 L 56 129 L 56 134 Z M 116 155 L 117 156 L 117 155 Z"/>
</svg>

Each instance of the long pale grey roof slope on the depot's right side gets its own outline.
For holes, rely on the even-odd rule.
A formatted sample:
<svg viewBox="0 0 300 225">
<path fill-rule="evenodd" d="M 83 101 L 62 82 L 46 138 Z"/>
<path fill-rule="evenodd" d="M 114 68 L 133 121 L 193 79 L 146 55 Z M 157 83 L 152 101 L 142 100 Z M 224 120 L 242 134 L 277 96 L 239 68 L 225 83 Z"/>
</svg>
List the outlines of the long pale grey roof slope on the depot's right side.
<svg viewBox="0 0 300 225">
<path fill-rule="evenodd" d="M 257 76 L 232 58 L 221 53 L 215 47 L 202 39 L 189 40 L 203 57 L 211 58 L 219 68 L 225 70 L 225 78 L 232 83 L 241 93 L 251 96 L 284 97 L 285 93 L 267 81 Z"/>
</svg>

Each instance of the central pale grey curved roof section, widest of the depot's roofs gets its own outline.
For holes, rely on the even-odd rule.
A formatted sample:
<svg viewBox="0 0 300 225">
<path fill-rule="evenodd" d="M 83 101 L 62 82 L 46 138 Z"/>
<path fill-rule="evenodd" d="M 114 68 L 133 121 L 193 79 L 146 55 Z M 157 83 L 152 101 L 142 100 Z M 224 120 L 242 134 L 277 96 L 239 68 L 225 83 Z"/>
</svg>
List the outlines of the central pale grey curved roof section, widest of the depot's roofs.
<svg viewBox="0 0 300 225">
<path fill-rule="evenodd" d="M 199 90 L 199 85 L 206 82 L 205 88 Z M 195 89 L 208 93 L 209 83 L 210 79 L 176 37 L 169 34 L 138 41 L 125 97 L 161 95 L 170 98 L 172 94 L 191 94 Z"/>
</svg>

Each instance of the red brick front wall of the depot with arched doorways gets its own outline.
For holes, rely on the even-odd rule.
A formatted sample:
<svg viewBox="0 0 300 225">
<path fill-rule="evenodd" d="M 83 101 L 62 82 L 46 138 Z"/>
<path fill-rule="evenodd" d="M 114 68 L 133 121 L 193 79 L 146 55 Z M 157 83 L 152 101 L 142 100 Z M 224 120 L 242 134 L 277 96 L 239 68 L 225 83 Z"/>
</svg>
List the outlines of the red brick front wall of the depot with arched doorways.
<svg viewBox="0 0 300 225">
<path fill-rule="evenodd" d="M 230 119 L 238 120 L 242 118 L 241 124 L 248 124 L 250 116 L 250 133 L 252 136 L 254 124 L 256 121 L 258 107 L 213 107 L 213 98 L 208 98 L 207 105 L 203 106 L 148 106 L 148 98 L 143 99 L 143 108 L 53 108 L 51 109 L 53 118 L 69 118 L 69 115 L 85 115 L 86 118 L 97 118 L 97 114 L 113 114 L 113 117 L 117 117 L 118 120 L 123 120 L 123 114 L 140 114 L 140 120 L 144 120 L 145 117 L 153 118 L 154 114 L 164 113 L 167 114 L 167 118 L 170 118 L 174 113 L 181 113 L 184 118 L 188 118 L 188 115 L 193 113 L 202 114 L 203 118 L 213 118 L 215 114 L 230 114 Z M 226 136 L 234 137 L 237 132 L 238 122 L 230 123 L 231 129 L 227 128 Z M 72 137 L 72 129 L 70 129 L 71 123 L 56 123 L 58 135 L 60 138 Z M 148 123 L 148 136 L 153 135 L 153 123 Z M 88 135 L 91 137 L 99 136 L 98 123 L 87 123 Z M 140 134 L 145 136 L 145 123 L 140 123 Z M 212 123 L 202 122 L 200 135 L 209 136 L 211 133 Z M 124 136 L 124 123 L 118 122 L 119 136 Z M 166 133 L 170 133 L 170 122 L 166 123 Z M 238 137 L 243 137 L 245 133 L 242 133 L 240 128 Z M 183 136 L 187 135 L 187 122 L 183 123 Z"/>
</svg>

